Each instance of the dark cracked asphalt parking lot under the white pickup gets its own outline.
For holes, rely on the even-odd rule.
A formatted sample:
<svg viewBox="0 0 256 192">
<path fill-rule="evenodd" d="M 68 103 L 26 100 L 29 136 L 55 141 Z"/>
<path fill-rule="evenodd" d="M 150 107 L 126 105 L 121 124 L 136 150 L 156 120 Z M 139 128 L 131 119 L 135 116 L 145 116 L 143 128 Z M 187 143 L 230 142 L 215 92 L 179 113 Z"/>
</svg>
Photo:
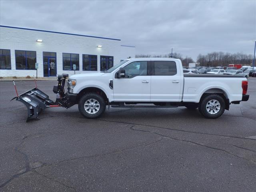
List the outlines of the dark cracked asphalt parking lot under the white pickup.
<svg viewBox="0 0 256 192">
<path fill-rule="evenodd" d="M 37 84 L 54 100 L 55 81 Z M 256 78 L 248 94 L 214 120 L 184 107 L 110 108 L 88 120 L 73 106 L 26 123 L 12 82 L 0 82 L 0 191 L 253 192 Z"/>
</svg>

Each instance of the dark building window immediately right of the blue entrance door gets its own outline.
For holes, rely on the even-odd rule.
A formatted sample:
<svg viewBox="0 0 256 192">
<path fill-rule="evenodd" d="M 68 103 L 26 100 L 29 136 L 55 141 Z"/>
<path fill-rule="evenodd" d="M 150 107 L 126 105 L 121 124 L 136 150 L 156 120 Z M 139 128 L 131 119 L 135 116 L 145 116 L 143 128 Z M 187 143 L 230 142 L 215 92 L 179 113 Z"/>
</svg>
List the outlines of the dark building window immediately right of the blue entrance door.
<svg viewBox="0 0 256 192">
<path fill-rule="evenodd" d="M 73 65 L 76 65 L 76 71 L 79 71 L 79 54 L 62 53 L 63 70 L 74 70 Z"/>
</svg>

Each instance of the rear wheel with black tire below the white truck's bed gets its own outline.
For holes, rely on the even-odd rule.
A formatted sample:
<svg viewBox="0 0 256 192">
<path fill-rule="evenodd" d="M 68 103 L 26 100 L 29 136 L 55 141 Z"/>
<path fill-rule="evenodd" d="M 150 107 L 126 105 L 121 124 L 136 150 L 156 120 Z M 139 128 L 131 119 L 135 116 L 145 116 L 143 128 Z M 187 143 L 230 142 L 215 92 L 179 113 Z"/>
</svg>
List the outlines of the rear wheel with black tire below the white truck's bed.
<svg viewBox="0 0 256 192">
<path fill-rule="evenodd" d="M 217 101 L 216 103 L 214 102 L 215 108 L 214 106 L 211 106 L 211 107 L 206 106 L 208 104 L 211 105 L 213 100 Z M 218 103 L 220 104 L 220 106 L 218 106 Z M 198 110 L 202 114 L 202 116 L 209 119 L 215 119 L 220 117 L 224 113 L 225 108 L 226 108 L 225 100 L 224 98 L 222 98 L 222 96 L 218 94 L 210 94 L 208 96 L 205 96 L 204 98 L 202 98 L 198 106 Z"/>
</svg>

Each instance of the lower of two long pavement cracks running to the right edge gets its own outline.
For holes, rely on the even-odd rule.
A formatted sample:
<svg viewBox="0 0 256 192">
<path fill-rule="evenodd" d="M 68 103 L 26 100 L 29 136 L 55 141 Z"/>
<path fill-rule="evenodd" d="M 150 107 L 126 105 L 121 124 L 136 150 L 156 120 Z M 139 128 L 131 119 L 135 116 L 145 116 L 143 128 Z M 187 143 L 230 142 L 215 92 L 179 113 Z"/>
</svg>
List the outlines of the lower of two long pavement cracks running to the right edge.
<svg viewBox="0 0 256 192">
<path fill-rule="evenodd" d="M 227 150 L 224 150 L 224 149 L 220 149 L 220 148 L 215 148 L 215 147 L 203 145 L 203 144 L 196 143 L 196 142 L 192 142 L 192 141 L 189 141 L 189 140 L 183 140 L 183 139 L 178 139 L 178 138 L 166 136 L 166 135 L 163 135 L 163 134 L 159 134 L 159 133 L 157 133 L 157 132 L 154 132 L 154 131 L 138 130 L 138 129 L 134 129 L 133 127 L 130 127 L 130 129 L 131 129 L 131 130 L 134 130 L 134 131 L 149 132 L 149 133 L 156 134 L 156 135 L 159 135 L 159 136 L 162 136 L 162 137 L 166 137 L 166 138 L 170 138 L 170 139 L 174 139 L 174 140 L 178 140 L 178 141 L 182 141 L 182 142 L 188 142 L 188 143 L 196 144 L 196 145 L 198 145 L 198 146 L 207 147 L 207 148 L 210 148 L 210 149 L 213 149 L 213 150 L 220 150 L 220 151 L 222 151 L 222 152 L 226 152 L 226 153 L 228 153 L 228 154 L 230 154 L 230 155 L 232 155 L 232 156 L 241 158 L 241 159 L 243 159 L 243 160 L 247 160 L 247 161 L 249 161 L 249 162 L 256 163 L 256 161 L 252 161 L 252 160 L 250 160 L 250 159 L 246 159 L 246 158 L 240 157 L 240 156 L 238 156 L 238 155 L 236 155 L 236 154 L 232 154 L 231 152 L 228 152 Z"/>
</svg>

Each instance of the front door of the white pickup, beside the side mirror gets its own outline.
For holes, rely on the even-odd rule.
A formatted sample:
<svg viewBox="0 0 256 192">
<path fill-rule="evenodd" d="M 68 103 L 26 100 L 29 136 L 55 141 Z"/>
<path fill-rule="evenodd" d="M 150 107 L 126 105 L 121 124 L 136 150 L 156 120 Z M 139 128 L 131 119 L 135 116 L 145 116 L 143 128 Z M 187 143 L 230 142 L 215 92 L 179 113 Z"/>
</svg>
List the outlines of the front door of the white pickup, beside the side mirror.
<svg viewBox="0 0 256 192">
<path fill-rule="evenodd" d="M 150 101 L 150 61 L 135 61 L 124 67 L 125 76 L 114 74 L 114 101 Z"/>
</svg>

